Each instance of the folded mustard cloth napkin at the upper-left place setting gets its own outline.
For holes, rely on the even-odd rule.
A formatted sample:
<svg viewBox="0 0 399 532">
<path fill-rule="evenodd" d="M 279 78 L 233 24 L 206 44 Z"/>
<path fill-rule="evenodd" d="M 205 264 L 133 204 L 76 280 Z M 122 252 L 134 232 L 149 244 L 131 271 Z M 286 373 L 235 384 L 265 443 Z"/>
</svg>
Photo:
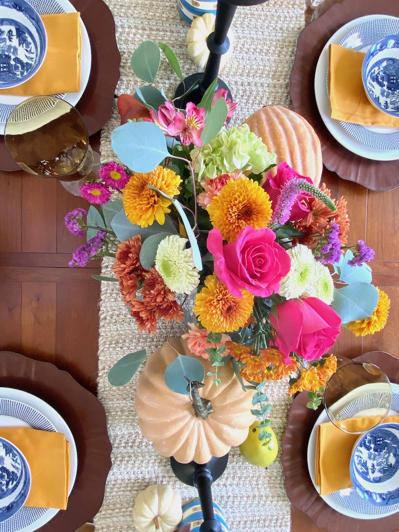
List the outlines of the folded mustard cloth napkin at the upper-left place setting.
<svg viewBox="0 0 399 532">
<path fill-rule="evenodd" d="M 80 87 L 80 13 L 41 15 L 47 32 L 47 53 L 39 70 L 17 87 L 0 95 L 45 96 L 76 93 Z"/>
</svg>

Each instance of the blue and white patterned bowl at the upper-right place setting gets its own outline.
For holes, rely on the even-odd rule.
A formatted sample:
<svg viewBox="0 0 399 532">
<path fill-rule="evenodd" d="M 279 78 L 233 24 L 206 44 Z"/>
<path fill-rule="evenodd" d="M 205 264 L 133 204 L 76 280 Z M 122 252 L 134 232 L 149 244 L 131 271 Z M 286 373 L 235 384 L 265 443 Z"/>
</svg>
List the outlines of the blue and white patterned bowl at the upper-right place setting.
<svg viewBox="0 0 399 532">
<path fill-rule="evenodd" d="M 399 117 L 399 35 L 390 35 L 371 46 L 364 56 L 362 81 L 372 105 Z"/>
</svg>

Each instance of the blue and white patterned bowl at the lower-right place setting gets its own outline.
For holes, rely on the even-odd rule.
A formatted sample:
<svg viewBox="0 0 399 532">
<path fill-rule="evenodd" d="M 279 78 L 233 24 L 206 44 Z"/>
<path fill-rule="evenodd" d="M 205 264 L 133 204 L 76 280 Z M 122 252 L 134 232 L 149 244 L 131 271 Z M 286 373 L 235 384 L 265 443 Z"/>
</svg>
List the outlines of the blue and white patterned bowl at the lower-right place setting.
<svg viewBox="0 0 399 532">
<path fill-rule="evenodd" d="M 376 506 L 399 503 L 399 423 L 384 423 L 361 436 L 351 456 L 353 487 Z"/>
</svg>

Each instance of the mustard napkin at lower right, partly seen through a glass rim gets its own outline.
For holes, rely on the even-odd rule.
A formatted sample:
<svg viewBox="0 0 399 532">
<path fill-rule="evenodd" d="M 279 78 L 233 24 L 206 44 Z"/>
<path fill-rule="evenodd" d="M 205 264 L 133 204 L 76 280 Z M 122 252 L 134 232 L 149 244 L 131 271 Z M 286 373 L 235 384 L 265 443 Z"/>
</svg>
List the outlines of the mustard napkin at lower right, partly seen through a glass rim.
<svg viewBox="0 0 399 532">
<path fill-rule="evenodd" d="M 384 423 L 399 423 L 399 415 L 389 415 Z M 346 430 L 367 430 L 370 418 L 350 418 L 342 422 Z M 317 428 L 315 481 L 320 486 L 320 495 L 352 488 L 349 472 L 353 446 L 360 434 L 345 433 L 331 421 L 321 423 Z"/>
</svg>

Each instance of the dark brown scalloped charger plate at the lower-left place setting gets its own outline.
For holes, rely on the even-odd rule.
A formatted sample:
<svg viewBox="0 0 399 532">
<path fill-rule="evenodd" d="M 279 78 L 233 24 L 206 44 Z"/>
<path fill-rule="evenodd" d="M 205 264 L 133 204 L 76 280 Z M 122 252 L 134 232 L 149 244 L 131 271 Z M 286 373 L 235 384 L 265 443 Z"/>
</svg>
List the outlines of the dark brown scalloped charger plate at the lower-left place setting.
<svg viewBox="0 0 399 532">
<path fill-rule="evenodd" d="M 48 362 L 18 353 L 0 352 L 0 386 L 36 395 L 51 405 L 73 434 L 78 451 L 78 473 L 66 510 L 61 510 L 40 532 L 74 532 L 91 521 L 101 508 L 111 468 L 111 442 L 103 405 L 68 372 Z"/>
</svg>

